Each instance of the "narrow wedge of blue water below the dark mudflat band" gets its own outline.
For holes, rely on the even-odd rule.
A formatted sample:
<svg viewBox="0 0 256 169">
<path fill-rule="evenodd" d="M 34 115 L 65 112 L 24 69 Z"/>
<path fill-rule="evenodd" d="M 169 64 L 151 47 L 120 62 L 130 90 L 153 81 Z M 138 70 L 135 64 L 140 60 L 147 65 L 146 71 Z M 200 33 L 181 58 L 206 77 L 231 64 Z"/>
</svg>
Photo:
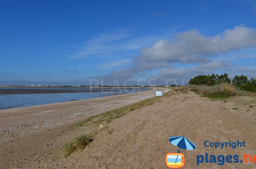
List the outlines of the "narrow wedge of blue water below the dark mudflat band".
<svg viewBox="0 0 256 169">
<path fill-rule="evenodd" d="M 42 89 L 44 90 L 44 89 Z M 61 90 L 61 89 L 60 89 Z M 65 89 L 64 89 L 65 90 Z M 73 100 L 92 99 L 126 93 L 143 92 L 150 89 L 114 89 L 108 92 L 77 92 L 77 93 L 49 93 L 49 94 L 0 94 L 0 109 L 37 106 L 49 103 L 67 102 Z"/>
</svg>

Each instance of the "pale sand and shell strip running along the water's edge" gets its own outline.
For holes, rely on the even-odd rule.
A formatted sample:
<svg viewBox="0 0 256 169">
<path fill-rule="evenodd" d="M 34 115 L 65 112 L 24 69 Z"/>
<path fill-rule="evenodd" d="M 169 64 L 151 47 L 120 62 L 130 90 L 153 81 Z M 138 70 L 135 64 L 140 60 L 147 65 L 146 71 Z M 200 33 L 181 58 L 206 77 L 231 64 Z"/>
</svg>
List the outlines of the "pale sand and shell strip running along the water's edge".
<svg viewBox="0 0 256 169">
<path fill-rule="evenodd" d="M 168 90 L 168 89 L 166 89 Z M 0 110 L 0 129 L 10 128 L 24 123 L 35 123 L 40 120 L 56 119 L 78 113 L 79 116 L 109 110 L 154 97 L 154 90 L 144 92 L 98 97 L 85 100 L 74 100 L 38 106 L 28 106 Z M 91 112 L 93 111 L 94 112 Z M 97 110 L 97 111 L 95 111 Z"/>
</svg>

